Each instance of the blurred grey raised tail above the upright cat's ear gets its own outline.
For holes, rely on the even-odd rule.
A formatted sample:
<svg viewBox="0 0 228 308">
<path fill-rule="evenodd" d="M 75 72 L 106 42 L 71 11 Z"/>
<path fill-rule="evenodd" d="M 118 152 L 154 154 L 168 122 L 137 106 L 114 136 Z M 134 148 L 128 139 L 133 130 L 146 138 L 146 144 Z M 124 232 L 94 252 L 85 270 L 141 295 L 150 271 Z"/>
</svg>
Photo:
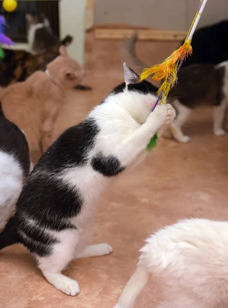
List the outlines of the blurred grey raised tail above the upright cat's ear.
<svg viewBox="0 0 228 308">
<path fill-rule="evenodd" d="M 126 62 L 131 61 L 132 65 L 135 66 L 136 70 L 142 70 L 149 67 L 146 63 L 142 62 L 136 55 L 135 45 L 138 41 L 138 34 L 135 32 L 132 34 L 128 40 L 125 42 L 123 50 L 125 51 Z"/>
</svg>

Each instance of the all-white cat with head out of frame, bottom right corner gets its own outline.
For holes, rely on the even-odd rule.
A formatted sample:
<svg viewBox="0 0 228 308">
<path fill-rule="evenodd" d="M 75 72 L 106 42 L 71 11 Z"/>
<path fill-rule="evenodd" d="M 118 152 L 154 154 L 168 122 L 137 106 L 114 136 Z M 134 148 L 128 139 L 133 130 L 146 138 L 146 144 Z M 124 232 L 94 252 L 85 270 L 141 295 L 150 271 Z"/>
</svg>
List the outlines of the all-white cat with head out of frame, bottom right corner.
<svg viewBox="0 0 228 308">
<path fill-rule="evenodd" d="M 146 242 L 114 308 L 133 307 L 149 274 L 161 288 L 157 308 L 228 306 L 228 222 L 186 219 Z"/>
</svg>

